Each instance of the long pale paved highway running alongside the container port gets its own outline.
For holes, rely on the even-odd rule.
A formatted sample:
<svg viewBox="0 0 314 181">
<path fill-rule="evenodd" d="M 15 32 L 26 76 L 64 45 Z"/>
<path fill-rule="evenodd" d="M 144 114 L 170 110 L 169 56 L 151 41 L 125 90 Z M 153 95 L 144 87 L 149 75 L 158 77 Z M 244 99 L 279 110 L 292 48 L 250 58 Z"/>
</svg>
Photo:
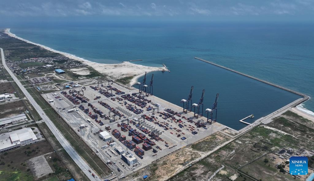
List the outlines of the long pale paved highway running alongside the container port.
<svg viewBox="0 0 314 181">
<path fill-rule="evenodd" d="M 16 84 L 19 86 L 19 88 L 22 90 L 24 95 L 27 97 L 27 99 L 30 101 L 30 103 L 35 107 L 36 111 L 39 113 L 41 118 L 45 121 L 48 128 L 51 130 L 52 134 L 55 135 L 57 140 L 60 142 L 60 144 L 63 146 L 63 148 L 68 152 L 68 154 L 71 156 L 71 158 L 74 160 L 74 162 L 82 169 L 82 171 L 85 173 L 85 175 L 92 181 L 97 180 L 101 181 L 100 178 L 94 178 L 91 173 L 88 172 L 88 170 L 92 170 L 87 163 L 78 155 L 76 151 L 72 148 L 72 146 L 69 144 L 69 142 L 63 137 L 63 135 L 59 132 L 57 127 L 52 123 L 52 121 L 48 118 L 46 113 L 41 109 L 41 107 L 35 102 L 32 96 L 30 96 L 29 92 L 24 88 L 24 86 L 20 83 L 20 81 L 16 78 L 16 76 L 11 72 L 11 70 L 8 68 L 7 64 L 5 63 L 4 59 L 4 53 L 3 49 L 1 50 L 1 58 L 4 68 L 8 71 L 8 73 L 12 76 L 13 80 L 16 82 Z"/>
</svg>

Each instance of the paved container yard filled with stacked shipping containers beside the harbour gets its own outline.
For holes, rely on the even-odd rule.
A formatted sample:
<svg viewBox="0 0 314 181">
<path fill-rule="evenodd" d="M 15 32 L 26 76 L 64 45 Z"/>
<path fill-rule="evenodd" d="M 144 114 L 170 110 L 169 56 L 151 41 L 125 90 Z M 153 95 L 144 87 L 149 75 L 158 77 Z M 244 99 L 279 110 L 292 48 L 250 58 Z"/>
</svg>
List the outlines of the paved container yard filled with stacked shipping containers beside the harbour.
<svg viewBox="0 0 314 181">
<path fill-rule="evenodd" d="M 110 81 L 42 96 L 104 162 L 110 160 L 113 172 L 123 175 L 226 128 L 205 124 L 207 118 L 145 92 Z"/>
</svg>

